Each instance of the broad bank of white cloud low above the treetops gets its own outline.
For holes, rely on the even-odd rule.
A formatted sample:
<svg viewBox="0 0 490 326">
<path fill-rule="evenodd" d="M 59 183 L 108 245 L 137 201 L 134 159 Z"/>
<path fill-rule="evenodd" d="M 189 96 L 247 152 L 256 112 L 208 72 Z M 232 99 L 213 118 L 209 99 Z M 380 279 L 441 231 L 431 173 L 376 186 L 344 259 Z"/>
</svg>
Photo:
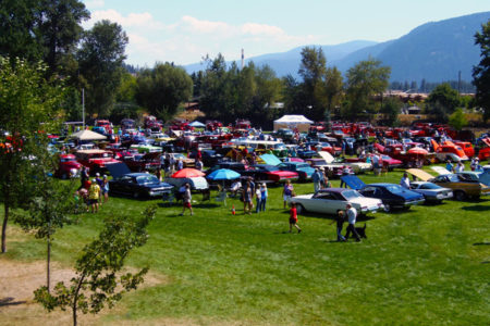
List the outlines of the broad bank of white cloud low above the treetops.
<svg viewBox="0 0 490 326">
<path fill-rule="evenodd" d="M 148 12 L 123 15 L 113 9 L 95 11 L 90 21 L 84 24 L 85 28 L 101 20 L 115 22 L 126 32 L 130 63 L 149 66 L 156 61 L 188 64 L 199 62 L 206 54 L 213 58 L 220 52 L 226 60 L 235 60 L 242 48 L 250 57 L 285 51 L 316 39 L 314 36 L 289 35 L 273 25 L 253 22 L 233 25 L 189 15 L 166 25 Z"/>
</svg>

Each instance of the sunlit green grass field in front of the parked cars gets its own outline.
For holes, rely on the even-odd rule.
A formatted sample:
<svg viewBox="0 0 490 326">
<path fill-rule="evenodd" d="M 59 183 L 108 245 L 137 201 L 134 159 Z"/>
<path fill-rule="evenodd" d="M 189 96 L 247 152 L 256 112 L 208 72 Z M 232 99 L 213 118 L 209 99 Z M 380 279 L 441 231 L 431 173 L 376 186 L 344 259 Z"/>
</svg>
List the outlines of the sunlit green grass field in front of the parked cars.
<svg viewBox="0 0 490 326">
<path fill-rule="evenodd" d="M 397 183 L 401 171 L 360 177 Z M 295 190 L 311 192 L 313 184 L 295 184 Z M 101 322 L 488 325 L 488 199 L 372 214 L 358 222 L 367 224 L 367 240 L 339 243 L 329 216 L 299 216 L 303 233 L 286 233 L 281 188 L 269 195 L 268 211 L 253 215 L 243 214 L 238 200 L 224 208 L 213 200 L 201 203 L 198 195 L 194 216 L 179 216 L 181 206 L 160 204 L 148 243 L 127 264 L 149 265 L 168 281 L 127 294 L 120 310 Z M 53 259 L 71 266 L 98 235 L 102 216 L 138 214 L 155 202 L 112 198 L 99 214 L 81 215 L 78 225 L 57 235 Z M 2 259 L 23 262 L 45 255 L 44 242 L 27 235 L 17 235 L 9 249 Z"/>
</svg>

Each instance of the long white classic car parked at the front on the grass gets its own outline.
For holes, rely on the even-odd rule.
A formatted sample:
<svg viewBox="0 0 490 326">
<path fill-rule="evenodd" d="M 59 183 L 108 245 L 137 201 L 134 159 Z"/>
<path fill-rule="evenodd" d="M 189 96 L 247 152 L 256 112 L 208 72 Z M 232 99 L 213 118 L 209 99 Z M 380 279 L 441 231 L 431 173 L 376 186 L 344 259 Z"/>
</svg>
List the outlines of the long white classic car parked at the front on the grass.
<svg viewBox="0 0 490 326">
<path fill-rule="evenodd" d="M 360 214 L 376 213 L 383 209 L 380 199 L 367 198 L 356 190 L 346 188 L 327 188 L 316 193 L 295 196 L 290 199 L 290 202 L 296 204 L 298 213 L 307 211 L 336 214 L 345 210 L 347 203 L 351 203 Z"/>
</svg>

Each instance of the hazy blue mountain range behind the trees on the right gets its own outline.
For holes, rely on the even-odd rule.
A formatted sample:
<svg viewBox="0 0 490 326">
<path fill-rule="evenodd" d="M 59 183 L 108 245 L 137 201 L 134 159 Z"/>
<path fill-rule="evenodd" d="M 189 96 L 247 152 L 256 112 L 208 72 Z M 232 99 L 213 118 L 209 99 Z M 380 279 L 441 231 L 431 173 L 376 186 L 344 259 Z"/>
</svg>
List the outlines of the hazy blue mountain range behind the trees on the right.
<svg viewBox="0 0 490 326">
<path fill-rule="evenodd" d="M 490 12 L 481 12 L 420 25 L 407 35 L 385 42 L 355 40 L 321 47 L 328 66 L 336 66 L 343 74 L 362 60 L 370 57 L 391 66 L 391 80 L 446 82 L 471 80 L 473 66 L 480 60 L 480 49 L 475 45 L 475 34 L 490 20 Z M 249 58 L 256 65 L 268 64 L 279 77 L 289 74 L 297 77 L 301 52 L 304 47 L 286 52 Z M 203 70 L 199 63 L 184 66 L 191 74 Z"/>
</svg>

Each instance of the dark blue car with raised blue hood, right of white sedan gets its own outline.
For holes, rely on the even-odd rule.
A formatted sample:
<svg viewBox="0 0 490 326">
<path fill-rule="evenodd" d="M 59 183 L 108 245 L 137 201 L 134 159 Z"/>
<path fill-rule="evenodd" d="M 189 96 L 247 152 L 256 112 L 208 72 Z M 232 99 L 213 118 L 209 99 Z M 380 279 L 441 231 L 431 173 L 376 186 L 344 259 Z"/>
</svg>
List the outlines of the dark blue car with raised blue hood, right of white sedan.
<svg viewBox="0 0 490 326">
<path fill-rule="evenodd" d="M 387 212 L 393 209 L 406 209 L 412 205 L 424 203 L 424 195 L 403 188 L 395 184 L 370 184 L 366 185 L 355 175 L 342 176 L 341 179 L 348 187 L 359 191 L 365 197 L 378 198 L 383 201 Z"/>
</svg>

